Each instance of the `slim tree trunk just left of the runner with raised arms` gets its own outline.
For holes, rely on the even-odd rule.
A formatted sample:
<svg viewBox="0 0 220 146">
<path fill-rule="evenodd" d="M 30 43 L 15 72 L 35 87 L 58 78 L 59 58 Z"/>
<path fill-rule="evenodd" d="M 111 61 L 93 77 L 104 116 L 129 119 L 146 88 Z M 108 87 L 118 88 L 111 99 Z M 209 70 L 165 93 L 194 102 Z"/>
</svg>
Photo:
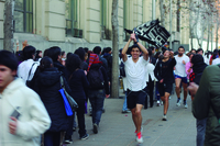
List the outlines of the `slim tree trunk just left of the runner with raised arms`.
<svg viewBox="0 0 220 146">
<path fill-rule="evenodd" d="M 111 24 L 112 24 L 112 80 L 111 98 L 119 98 L 119 0 L 112 1 Z"/>
</svg>

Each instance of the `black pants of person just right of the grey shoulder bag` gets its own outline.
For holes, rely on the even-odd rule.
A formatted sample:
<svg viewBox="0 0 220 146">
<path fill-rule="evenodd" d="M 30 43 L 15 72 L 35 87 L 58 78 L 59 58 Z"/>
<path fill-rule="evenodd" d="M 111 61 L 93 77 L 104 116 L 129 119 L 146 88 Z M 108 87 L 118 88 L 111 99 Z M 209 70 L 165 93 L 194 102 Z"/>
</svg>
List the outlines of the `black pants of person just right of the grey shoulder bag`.
<svg viewBox="0 0 220 146">
<path fill-rule="evenodd" d="M 79 126 L 79 131 L 78 134 L 79 136 L 84 136 L 86 134 L 86 125 L 85 125 L 85 102 L 86 100 L 84 99 L 75 99 L 75 101 L 78 104 L 78 109 L 76 110 L 76 116 L 78 120 L 78 126 Z M 70 122 L 69 122 L 69 128 L 66 131 L 66 139 L 72 138 L 73 135 L 73 123 L 74 123 L 74 116 L 70 117 Z"/>
</svg>

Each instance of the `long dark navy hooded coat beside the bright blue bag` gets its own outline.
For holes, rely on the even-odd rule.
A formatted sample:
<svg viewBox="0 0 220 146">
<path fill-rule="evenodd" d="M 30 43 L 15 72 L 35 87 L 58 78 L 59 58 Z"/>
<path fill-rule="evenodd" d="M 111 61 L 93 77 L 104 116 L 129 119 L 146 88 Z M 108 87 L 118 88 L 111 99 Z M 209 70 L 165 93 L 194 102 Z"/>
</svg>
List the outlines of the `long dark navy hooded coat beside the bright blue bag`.
<svg viewBox="0 0 220 146">
<path fill-rule="evenodd" d="M 61 89 L 62 75 L 55 67 L 46 68 L 40 72 L 35 83 L 35 91 L 41 97 L 52 120 L 50 132 L 61 132 L 68 128 L 68 117 L 66 115 L 64 100 L 58 91 Z M 64 83 L 67 92 L 70 93 L 70 89 L 65 79 Z"/>
</svg>

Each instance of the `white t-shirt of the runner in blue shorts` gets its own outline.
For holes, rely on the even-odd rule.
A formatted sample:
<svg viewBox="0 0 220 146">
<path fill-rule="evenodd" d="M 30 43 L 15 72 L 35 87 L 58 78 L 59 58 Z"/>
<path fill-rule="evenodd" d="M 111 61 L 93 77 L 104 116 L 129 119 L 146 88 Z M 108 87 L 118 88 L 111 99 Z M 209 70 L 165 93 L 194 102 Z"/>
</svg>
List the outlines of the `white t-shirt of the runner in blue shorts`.
<svg viewBox="0 0 220 146">
<path fill-rule="evenodd" d="M 189 61 L 189 57 L 186 56 L 185 54 L 182 57 L 178 57 L 178 55 L 174 56 L 176 59 L 176 70 L 175 70 L 175 75 L 180 76 L 180 77 L 186 77 L 186 69 L 185 69 L 185 65 L 183 64 L 183 60 L 185 60 L 185 63 L 187 64 Z"/>
</svg>

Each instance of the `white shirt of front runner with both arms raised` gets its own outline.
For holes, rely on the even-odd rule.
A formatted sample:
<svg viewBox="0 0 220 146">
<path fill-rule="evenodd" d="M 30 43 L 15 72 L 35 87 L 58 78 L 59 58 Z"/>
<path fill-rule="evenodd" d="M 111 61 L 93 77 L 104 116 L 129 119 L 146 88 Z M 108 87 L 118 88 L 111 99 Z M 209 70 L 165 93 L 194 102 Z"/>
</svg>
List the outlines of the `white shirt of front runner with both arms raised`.
<svg viewBox="0 0 220 146">
<path fill-rule="evenodd" d="M 131 91 L 140 91 L 146 87 L 146 65 L 148 60 L 140 57 L 136 63 L 131 58 L 124 61 L 127 74 L 127 88 Z"/>
</svg>

